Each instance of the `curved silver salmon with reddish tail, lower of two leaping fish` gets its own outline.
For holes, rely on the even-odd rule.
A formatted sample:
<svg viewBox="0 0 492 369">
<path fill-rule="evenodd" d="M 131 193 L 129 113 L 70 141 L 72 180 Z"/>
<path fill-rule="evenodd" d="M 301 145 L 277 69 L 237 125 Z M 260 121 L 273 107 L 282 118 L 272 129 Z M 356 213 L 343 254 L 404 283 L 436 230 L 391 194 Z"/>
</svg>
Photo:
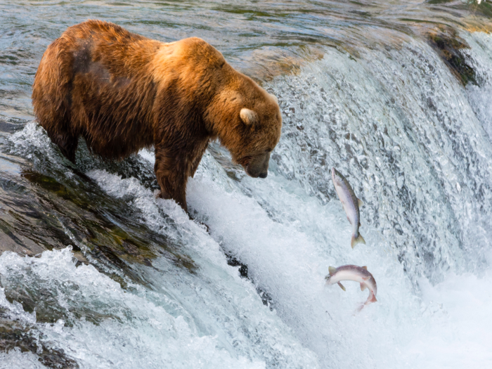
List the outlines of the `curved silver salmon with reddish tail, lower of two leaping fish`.
<svg viewBox="0 0 492 369">
<path fill-rule="evenodd" d="M 373 275 L 368 272 L 367 266 L 342 265 L 338 268 L 330 266 L 328 271 L 330 271 L 330 274 L 325 277 L 328 285 L 335 285 L 335 283 L 337 283 L 342 290 L 345 290 L 345 287 L 340 283 L 340 280 L 354 280 L 355 282 L 361 283 L 361 291 L 365 290 L 365 288 L 368 288 L 370 291 L 369 297 L 364 305 L 368 305 L 371 302 L 377 302 L 376 280 Z"/>
</svg>

